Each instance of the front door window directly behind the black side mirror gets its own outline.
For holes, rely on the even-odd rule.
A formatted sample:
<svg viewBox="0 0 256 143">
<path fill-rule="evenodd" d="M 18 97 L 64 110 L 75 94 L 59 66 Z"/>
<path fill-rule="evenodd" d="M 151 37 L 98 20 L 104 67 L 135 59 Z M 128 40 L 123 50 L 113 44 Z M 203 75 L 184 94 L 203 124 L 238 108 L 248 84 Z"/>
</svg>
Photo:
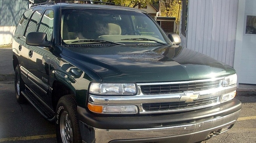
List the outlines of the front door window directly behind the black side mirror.
<svg viewBox="0 0 256 143">
<path fill-rule="evenodd" d="M 46 10 L 39 25 L 39 32 L 47 34 L 47 40 L 53 37 L 53 10 Z"/>
</svg>

